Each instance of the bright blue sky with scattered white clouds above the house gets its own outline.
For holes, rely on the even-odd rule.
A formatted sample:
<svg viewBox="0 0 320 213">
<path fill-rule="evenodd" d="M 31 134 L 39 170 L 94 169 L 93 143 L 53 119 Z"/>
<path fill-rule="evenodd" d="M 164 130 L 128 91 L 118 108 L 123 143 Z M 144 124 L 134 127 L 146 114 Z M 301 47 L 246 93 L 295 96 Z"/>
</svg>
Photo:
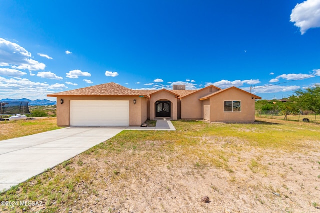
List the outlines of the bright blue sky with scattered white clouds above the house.
<svg viewBox="0 0 320 213">
<path fill-rule="evenodd" d="M 320 0 L 0 0 L 0 99 L 107 82 L 288 97 L 320 83 L 319 10 Z"/>
</svg>

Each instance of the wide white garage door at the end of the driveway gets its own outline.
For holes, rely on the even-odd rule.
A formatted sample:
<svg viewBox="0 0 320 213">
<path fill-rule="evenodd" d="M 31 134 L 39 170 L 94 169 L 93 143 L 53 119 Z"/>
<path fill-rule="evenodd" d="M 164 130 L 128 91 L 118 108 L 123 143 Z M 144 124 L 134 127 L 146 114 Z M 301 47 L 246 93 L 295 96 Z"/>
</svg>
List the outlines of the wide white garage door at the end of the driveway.
<svg viewBox="0 0 320 213">
<path fill-rule="evenodd" d="M 128 126 L 129 101 L 70 101 L 70 126 Z"/>
</svg>

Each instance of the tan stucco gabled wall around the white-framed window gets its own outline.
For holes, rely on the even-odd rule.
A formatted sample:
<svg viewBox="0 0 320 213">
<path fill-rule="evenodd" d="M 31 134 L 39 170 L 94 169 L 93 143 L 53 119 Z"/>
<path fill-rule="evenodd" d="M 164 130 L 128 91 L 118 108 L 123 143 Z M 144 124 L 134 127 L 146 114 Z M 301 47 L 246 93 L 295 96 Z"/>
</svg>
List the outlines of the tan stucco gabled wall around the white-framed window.
<svg viewBox="0 0 320 213">
<path fill-rule="evenodd" d="M 240 112 L 224 112 L 224 101 L 241 101 Z M 210 97 L 210 121 L 254 121 L 254 98 L 238 89 Z"/>
</svg>

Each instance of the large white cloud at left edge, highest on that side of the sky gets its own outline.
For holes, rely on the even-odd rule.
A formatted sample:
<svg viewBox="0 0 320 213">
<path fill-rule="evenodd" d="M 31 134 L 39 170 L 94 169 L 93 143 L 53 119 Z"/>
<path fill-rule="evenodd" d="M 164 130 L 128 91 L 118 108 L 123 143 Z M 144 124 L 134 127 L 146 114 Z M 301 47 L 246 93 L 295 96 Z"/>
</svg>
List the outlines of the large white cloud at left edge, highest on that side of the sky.
<svg viewBox="0 0 320 213">
<path fill-rule="evenodd" d="M 31 58 L 31 53 L 20 45 L 0 38 L 0 65 L 16 69 L 43 70 L 44 63 Z"/>
</svg>

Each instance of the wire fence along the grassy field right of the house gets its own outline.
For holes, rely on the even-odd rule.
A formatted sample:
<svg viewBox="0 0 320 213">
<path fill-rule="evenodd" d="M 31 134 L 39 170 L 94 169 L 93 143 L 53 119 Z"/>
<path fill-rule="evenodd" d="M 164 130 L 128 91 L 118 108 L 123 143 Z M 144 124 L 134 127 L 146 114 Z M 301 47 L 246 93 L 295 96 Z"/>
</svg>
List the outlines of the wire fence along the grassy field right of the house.
<svg viewBox="0 0 320 213">
<path fill-rule="evenodd" d="M 255 110 L 255 117 L 284 120 L 285 115 L 279 110 L 272 110 L 272 111 Z M 320 123 L 320 115 L 310 113 L 310 112 L 300 112 L 296 114 L 286 115 L 286 120 Z"/>
</svg>

